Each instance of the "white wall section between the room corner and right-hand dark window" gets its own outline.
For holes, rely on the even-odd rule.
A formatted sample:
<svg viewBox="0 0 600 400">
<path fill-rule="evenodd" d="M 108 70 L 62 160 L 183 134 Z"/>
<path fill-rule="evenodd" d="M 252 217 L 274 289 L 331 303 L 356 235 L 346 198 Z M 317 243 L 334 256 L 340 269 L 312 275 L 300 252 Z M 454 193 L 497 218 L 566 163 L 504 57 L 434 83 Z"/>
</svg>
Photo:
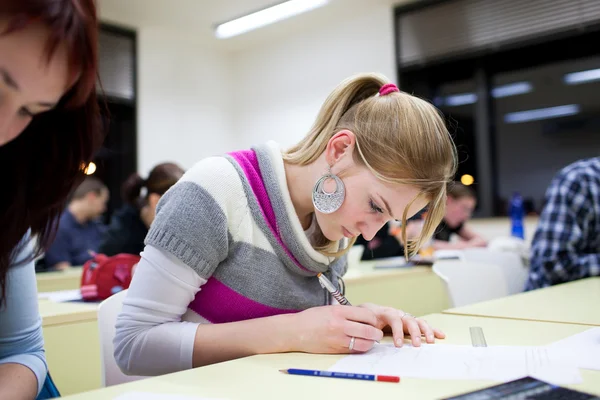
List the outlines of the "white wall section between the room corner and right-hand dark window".
<svg viewBox="0 0 600 400">
<path fill-rule="evenodd" d="M 393 7 L 373 0 L 233 54 L 236 148 L 300 140 L 340 81 L 380 72 L 395 81 Z"/>
</svg>

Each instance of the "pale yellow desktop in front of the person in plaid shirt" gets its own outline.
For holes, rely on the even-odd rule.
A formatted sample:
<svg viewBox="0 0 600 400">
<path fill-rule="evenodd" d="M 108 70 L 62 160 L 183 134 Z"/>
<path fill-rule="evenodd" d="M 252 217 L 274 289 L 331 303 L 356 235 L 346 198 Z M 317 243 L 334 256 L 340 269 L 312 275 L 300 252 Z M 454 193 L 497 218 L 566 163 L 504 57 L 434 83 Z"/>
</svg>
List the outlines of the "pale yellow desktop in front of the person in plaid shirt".
<svg viewBox="0 0 600 400">
<path fill-rule="evenodd" d="M 447 314 L 600 326 L 600 277 L 444 311 Z"/>
</svg>

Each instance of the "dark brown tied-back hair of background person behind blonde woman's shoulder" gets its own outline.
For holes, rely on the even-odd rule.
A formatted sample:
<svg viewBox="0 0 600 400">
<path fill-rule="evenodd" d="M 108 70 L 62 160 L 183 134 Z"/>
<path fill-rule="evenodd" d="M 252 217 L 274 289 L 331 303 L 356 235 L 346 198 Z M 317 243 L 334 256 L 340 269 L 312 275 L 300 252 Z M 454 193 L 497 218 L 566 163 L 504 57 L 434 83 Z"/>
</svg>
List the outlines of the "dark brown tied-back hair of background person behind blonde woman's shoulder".
<svg viewBox="0 0 600 400">
<path fill-rule="evenodd" d="M 151 193 L 162 196 L 171 186 L 177 183 L 184 172 L 183 168 L 177 164 L 162 163 L 150 171 L 148 179 L 143 179 L 139 174 L 134 173 L 127 178 L 121 187 L 123 201 L 138 207 L 143 206 Z M 141 197 L 143 188 L 146 188 L 144 198 Z"/>
</svg>

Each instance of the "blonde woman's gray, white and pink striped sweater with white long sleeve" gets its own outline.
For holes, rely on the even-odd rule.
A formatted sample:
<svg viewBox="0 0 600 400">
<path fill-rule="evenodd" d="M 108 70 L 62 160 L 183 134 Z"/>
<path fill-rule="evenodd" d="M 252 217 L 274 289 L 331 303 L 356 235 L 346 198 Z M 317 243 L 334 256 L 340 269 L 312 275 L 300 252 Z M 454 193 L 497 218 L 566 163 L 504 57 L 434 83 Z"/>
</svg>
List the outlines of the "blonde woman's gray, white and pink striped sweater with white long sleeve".
<svg viewBox="0 0 600 400">
<path fill-rule="evenodd" d="M 346 265 L 313 249 L 276 144 L 204 159 L 159 202 L 117 320 L 117 363 L 136 375 L 191 368 L 198 323 L 330 304 L 316 274 L 337 285 Z"/>
</svg>

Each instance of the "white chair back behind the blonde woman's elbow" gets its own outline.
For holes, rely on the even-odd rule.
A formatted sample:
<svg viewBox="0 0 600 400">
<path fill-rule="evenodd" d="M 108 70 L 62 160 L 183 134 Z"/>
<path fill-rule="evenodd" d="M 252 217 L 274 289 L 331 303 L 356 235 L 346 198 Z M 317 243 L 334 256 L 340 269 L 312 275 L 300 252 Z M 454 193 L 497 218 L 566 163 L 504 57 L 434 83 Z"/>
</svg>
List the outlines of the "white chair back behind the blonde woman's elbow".
<svg viewBox="0 0 600 400">
<path fill-rule="evenodd" d="M 142 376 L 128 376 L 122 373 L 114 357 L 115 324 L 126 294 L 127 290 L 123 290 L 110 296 L 98 306 L 102 386 L 112 386 L 145 378 Z"/>
</svg>

